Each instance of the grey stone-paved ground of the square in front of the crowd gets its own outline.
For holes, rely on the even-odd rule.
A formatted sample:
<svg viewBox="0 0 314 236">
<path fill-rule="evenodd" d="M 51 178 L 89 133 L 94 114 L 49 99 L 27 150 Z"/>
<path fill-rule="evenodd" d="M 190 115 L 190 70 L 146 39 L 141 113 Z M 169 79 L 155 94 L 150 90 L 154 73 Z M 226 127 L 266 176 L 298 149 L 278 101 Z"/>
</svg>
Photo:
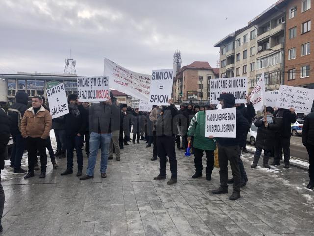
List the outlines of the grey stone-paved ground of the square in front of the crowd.
<svg viewBox="0 0 314 236">
<path fill-rule="evenodd" d="M 52 138 L 52 146 L 55 140 Z M 55 148 L 55 147 L 54 147 Z M 159 162 L 151 161 L 153 148 L 145 143 L 125 146 L 121 161 L 108 161 L 107 175 L 100 177 L 98 156 L 93 179 L 60 176 L 66 159 L 57 159 L 53 170 L 48 157 L 47 176 L 23 179 L 4 170 L 5 236 L 310 236 L 314 235 L 314 192 L 305 188 L 308 174 L 295 167 L 251 169 L 252 154 L 242 159 L 249 182 L 241 198 L 230 201 L 229 193 L 213 195 L 219 186 L 219 170 L 212 181 L 192 179 L 193 157 L 178 151 L 178 183 L 171 177 L 154 181 Z M 84 154 L 84 172 L 88 159 Z M 23 165 L 27 168 L 24 154 Z M 203 165 L 206 163 L 203 158 Z M 205 166 L 204 166 L 205 169 Z M 229 177 L 231 172 L 229 170 Z"/>
</svg>

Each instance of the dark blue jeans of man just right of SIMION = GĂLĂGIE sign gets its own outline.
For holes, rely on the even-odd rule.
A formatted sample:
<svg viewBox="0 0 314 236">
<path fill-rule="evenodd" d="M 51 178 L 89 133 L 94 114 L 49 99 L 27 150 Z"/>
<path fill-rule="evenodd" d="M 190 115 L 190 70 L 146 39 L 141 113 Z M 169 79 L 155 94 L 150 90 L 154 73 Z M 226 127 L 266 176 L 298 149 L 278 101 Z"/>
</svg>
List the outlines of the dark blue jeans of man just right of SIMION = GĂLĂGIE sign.
<svg viewBox="0 0 314 236">
<path fill-rule="evenodd" d="M 74 136 L 66 138 L 67 147 L 67 169 L 73 169 L 73 149 L 75 148 L 78 159 L 78 170 L 83 169 L 83 136 Z"/>
</svg>

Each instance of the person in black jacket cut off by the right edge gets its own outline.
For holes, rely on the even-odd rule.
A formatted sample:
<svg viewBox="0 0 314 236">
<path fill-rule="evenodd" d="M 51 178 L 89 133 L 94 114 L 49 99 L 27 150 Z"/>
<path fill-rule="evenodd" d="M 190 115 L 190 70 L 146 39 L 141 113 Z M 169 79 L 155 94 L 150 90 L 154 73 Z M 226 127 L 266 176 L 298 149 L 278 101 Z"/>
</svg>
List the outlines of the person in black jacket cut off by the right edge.
<svg viewBox="0 0 314 236">
<path fill-rule="evenodd" d="M 314 187 L 314 112 L 304 118 L 302 129 L 302 143 L 309 154 L 309 177 L 310 182 L 306 186 L 309 189 Z"/>
</svg>

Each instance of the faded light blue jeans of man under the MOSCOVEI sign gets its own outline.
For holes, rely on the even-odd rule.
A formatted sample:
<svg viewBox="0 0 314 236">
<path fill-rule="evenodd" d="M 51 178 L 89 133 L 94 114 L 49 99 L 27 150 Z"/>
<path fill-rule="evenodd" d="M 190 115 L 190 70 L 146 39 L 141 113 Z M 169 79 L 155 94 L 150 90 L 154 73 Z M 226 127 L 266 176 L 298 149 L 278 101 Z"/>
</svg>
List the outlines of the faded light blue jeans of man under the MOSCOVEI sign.
<svg viewBox="0 0 314 236">
<path fill-rule="evenodd" d="M 112 134 L 98 134 L 92 132 L 89 137 L 89 158 L 88 158 L 88 167 L 86 174 L 88 176 L 94 175 L 94 169 L 97 160 L 98 148 L 101 146 L 101 161 L 100 161 L 100 173 L 106 173 L 108 165 L 108 148 Z"/>
</svg>

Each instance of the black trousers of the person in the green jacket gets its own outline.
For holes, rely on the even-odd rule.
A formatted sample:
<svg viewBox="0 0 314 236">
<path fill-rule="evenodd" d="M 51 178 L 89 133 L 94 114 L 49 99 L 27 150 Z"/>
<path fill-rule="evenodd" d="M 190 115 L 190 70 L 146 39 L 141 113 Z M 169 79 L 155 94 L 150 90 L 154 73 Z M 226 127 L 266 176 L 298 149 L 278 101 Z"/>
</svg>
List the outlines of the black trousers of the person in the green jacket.
<svg viewBox="0 0 314 236">
<path fill-rule="evenodd" d="M 201 150 L 198 148 L 194 149 L 194 164 L 195 164 L 195 172 L 196 173 L 202 173 L 203 171 L 203 165 L 202 165 L 202 157 L 203 152 L 206 153 L 206 168 L 205 172 L 206 175 L 211 175 L 212 170 L 214 169 L 214 151 L 211 150 Z"/>
</svg>

